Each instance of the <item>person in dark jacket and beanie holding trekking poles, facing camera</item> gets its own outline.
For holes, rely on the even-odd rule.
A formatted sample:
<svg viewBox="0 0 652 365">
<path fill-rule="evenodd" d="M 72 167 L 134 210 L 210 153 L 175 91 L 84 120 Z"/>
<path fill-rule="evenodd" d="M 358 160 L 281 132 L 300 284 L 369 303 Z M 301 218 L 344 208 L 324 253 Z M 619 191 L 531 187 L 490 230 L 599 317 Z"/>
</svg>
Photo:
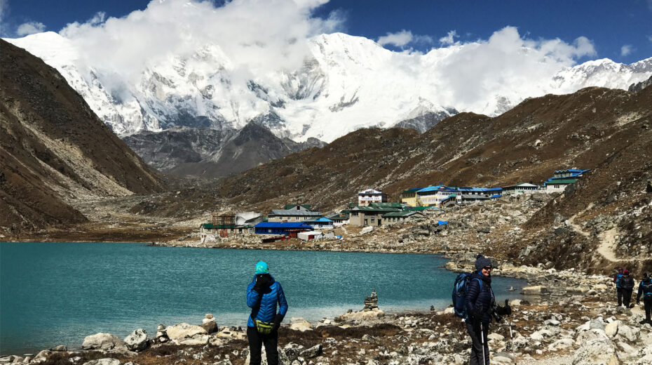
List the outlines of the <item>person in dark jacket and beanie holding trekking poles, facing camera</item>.
<svg viewBox="0 0 652 365">
<path fill-rule="evenodd" d="M 487 333 L 491 317 L 512 314 L 509 305 L 496 306 L 494 291 L 491 290 L 491 260 L 483 255 L 478 255 L 475 260 L 475 270 L 464 299 L 466 305 L 466 331 L 471 337 L 473 347 L 469 359 L 470 365 L 489 365 L 489 345 Z"/>
</svg>

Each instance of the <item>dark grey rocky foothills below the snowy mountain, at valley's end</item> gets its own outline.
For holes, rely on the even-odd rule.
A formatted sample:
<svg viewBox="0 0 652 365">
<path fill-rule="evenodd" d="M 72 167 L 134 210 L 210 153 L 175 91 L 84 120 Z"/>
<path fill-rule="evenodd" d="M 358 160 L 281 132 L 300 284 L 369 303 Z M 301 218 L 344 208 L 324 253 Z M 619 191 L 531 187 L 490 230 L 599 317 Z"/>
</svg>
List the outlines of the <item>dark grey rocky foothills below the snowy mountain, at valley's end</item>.
<svg viewBox="0 0 652 365">
<path fill-rule="evenodd" d="M 316 138 L 294 142 L 251 122 L 240 130 L 175 127 L 141 132 L 123 140 L 149 165 L 173 175 L 220 178 L 272 159 L 326 145 Z"/>
</svg>

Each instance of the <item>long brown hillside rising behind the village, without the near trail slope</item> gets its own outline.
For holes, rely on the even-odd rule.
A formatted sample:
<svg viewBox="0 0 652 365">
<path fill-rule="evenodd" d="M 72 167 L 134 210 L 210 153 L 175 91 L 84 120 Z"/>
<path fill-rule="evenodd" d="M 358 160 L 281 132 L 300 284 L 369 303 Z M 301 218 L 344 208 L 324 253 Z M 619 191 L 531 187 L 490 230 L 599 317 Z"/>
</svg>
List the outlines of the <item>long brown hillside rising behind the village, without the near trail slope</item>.
<svg viewBox="0 0 652 365">
<path fill-rule="evenodd" d="M 402 190 L 438 183 L 542 183 L 559 168 L 609 168 L 611 152 L 648 133 L 642 126 L 650 119 L 649 105 L 649 90 L 585 88 L 528 99 L 495 118 L 457 114 L 423 134 L 363 129 L 222 180 L 210 192 L 158 201 L 146 211 L 184 214 L 224 204 L 264 210 L 297 201 L 327 211 L 354 201 L 367 187 L 396 201 Z"/>
</svg>

